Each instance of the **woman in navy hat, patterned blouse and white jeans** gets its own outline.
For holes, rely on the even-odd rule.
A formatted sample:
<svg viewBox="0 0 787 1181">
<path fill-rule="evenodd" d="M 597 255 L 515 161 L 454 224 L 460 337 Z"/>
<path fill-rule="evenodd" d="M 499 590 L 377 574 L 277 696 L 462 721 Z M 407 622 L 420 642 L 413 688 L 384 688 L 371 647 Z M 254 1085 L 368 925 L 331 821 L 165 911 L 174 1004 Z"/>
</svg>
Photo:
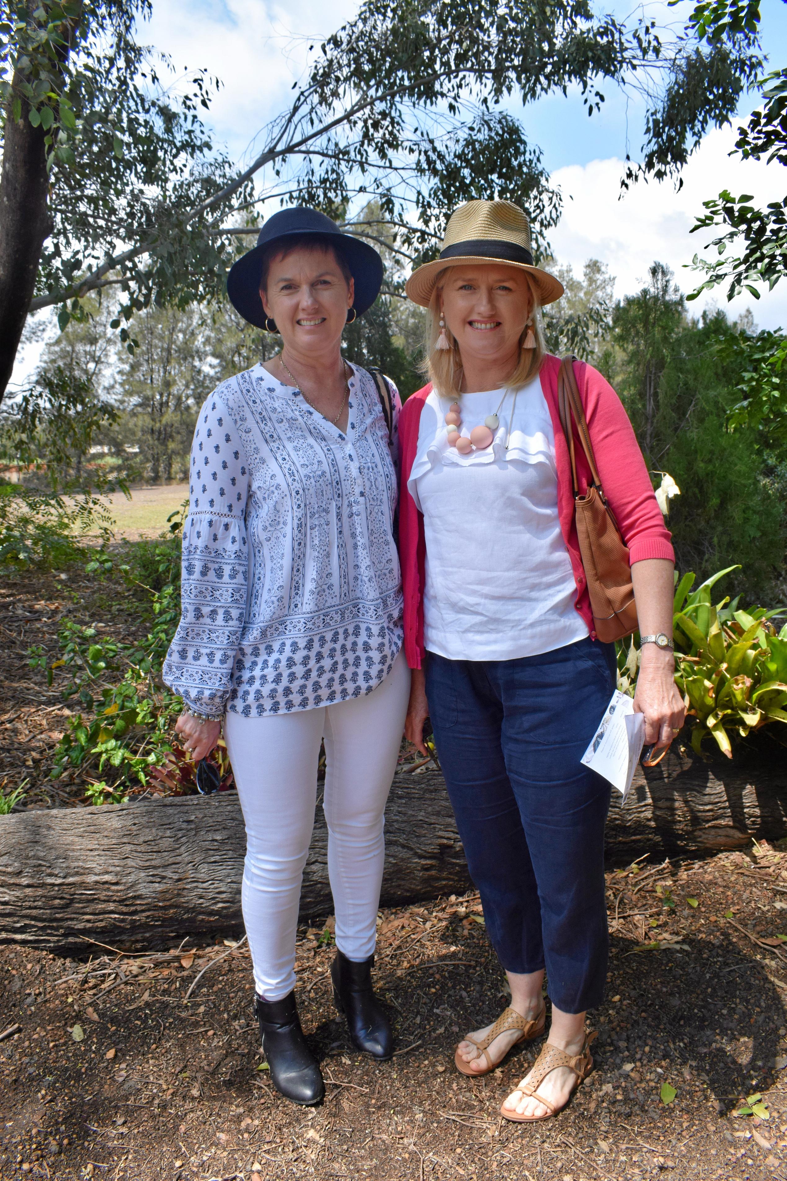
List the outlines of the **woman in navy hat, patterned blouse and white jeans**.
<svg viewBox="0 0 787 1181">
<path fill-rule="evenodd" d="M 223 723 L 246 822 L 242 906 L 262 1046 L 274 1085 L 305 1104 L 324 1095 L 294 996 L 320 742 L 334 999 L 359 1050 L 392 1053 L 371 966 L 410 685 L 392 534 L 399 399 L 340 351 L 382 279 L 376 250 L 301 208 L 271 217 L 232 268 L 232 302 L 279 333 L 281 351 L 223 381 L 200 411 L 182 618 L 164 666 L 195 759 Z"/>
</svg>

